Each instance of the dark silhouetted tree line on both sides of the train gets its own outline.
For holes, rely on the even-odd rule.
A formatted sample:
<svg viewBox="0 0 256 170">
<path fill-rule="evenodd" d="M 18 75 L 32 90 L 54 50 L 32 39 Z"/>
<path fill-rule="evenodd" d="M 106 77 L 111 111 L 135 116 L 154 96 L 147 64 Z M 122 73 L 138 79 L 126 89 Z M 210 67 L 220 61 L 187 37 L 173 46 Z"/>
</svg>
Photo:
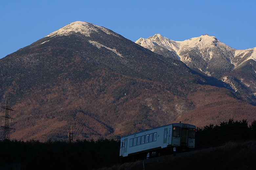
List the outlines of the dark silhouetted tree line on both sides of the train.
<svg viewBox="0 0 256 170">
<path fill-rule="evenodd" d="M 223 145 L 228 141 L 256 139 L 256 121 L 221 122 L 196 129 L 196 148 Z M 0 169 L 97 169 L 119 162 L 120 141 L 99 139 L 74 143 L 38 140 L 0 141 Z"/>
</svg>

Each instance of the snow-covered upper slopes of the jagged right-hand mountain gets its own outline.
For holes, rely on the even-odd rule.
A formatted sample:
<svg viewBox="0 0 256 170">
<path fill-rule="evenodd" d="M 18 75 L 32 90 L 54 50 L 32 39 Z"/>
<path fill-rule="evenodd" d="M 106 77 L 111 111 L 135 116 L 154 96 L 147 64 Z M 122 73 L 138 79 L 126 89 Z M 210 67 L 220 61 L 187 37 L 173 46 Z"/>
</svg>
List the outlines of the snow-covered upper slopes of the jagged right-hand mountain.
<svg viewBox="0 0 256 170">
<path fill-rule="evenodd" d="M 156 52 L 156 48 L 161 48 L 162 52 L 164 52 L 163 49 L 174 52 L 179 56 L 178 58 L 189 67 L 199 69 L 209 76 L 213 74 L 218 77 L 223 73 L 216 73 L 216 69 L 222 68 L 209 69 L 209 67 L 214 65 L 214 63 L 211 62 L 216 60 L 219 62 L 223 61 L 225 64 L 230 64 L 228 68 L 223 68 L 225 71 L 227 69 L 232 70 L 248 59 L 256 60 L 256 47 L 246 50 L 236 50 L 223 42 L 220 42 L 216 37 L 209 36 L 208 34 L 184 41 L 173 41 L 160 34 L 155 34 L 147 39 L 140 38 L 135 43 L 154 52 Z M 161 51 L 156 53 L 161 54 Z M 212 59 L 213 56 L 215 56 L 214 59 Z"/>
</svg>

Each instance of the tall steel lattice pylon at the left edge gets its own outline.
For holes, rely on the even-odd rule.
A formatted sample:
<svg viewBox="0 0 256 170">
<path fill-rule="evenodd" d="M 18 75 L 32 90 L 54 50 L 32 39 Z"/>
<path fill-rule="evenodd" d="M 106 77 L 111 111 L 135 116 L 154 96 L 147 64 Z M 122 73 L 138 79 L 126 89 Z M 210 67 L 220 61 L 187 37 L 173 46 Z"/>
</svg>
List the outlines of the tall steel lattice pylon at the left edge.
<svg viewBox="0 0 256 170">
<path fill-rule="evenodd" d="M 9 127 L 9 122 L 10 122 L 10 120 L 12 120 L 14 118 L 12 118 L 9 115 L 9 112 L 10 111 L 14 111 L 14 110 L 12 110 L 11 107 L 9 106 L 8 98 L 6 99 L 5 106 L 2 106 L 1 108 L 5 110 L 5 115 L 1 116 L 1 117 L 4 118 L 4 121 L 5 121 L 5 125 L 4 126 L 1 125 L 1 128 L 3 129 L 3 137 L 2 137 L 2 139 L 3 140 L 6 140 L 6 139 L 10 140 L 10 131 L 11 131 L 11 129 L 14 129 L 14 128 Z"/>
</svg>

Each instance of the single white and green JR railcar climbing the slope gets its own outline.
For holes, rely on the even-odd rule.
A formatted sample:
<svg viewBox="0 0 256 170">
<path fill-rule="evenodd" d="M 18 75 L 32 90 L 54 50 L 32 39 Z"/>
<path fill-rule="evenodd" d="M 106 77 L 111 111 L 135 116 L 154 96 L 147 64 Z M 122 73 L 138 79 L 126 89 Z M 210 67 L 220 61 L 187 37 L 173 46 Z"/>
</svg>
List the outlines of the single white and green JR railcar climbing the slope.
<svg viewBox="0 0 256 170">
<path fill-rule="evenodd" d="M 172 123 L 121 137 L 120 158 L 160 156 L 173 150 L 195 148 L 196 126 Z"/>
</svg>

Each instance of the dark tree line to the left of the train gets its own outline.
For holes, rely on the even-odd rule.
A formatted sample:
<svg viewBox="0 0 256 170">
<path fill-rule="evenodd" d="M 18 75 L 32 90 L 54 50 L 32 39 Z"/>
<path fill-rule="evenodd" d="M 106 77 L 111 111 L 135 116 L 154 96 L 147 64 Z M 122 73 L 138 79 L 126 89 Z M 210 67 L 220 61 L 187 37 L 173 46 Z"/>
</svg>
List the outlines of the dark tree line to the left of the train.
<svg viewBox="0 0 256 170">
<path fill-rule="evenodd" d="M 94 169 L 119 162 L 120 142 L 1 141 L 0 169 Z"/>
</svg>

